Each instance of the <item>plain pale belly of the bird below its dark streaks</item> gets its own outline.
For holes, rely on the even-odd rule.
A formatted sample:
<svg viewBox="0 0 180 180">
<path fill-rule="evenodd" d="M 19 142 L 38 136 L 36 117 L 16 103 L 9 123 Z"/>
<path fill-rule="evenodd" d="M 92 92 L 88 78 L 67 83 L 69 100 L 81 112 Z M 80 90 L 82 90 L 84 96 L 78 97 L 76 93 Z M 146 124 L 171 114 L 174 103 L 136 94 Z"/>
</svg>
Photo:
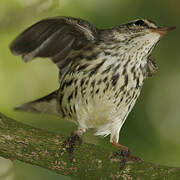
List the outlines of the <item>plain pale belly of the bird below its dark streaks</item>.
<svg viewBox="0 0 180 180">
<path fill-rule="evenodd" d="M 137 93 L 138 97 L 139 91 Z M 76 103 L 78 124 L 82 129 L 97 129 L 95 135 L 107 136 L 113 131 L 120 131 L 136 99 L 130 102 L 130 108 L 125 104 L 125 100 L 117 107 L 113 99 L 108 99 L 107 96 L 104 96 L 102 99 L 96 97 L 93 99 L 89 98 L 88 105 L 80 100 Z"/>
</svg>

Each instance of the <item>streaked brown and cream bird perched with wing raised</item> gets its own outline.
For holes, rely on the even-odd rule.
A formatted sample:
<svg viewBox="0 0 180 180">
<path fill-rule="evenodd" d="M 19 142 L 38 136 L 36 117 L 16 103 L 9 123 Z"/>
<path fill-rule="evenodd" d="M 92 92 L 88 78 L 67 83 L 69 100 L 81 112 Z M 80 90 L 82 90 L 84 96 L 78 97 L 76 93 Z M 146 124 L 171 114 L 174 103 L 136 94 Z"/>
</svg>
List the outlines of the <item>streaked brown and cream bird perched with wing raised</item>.
<svg viewBox="0 0 180 180">
<path fill-rule="evenodd" d="M 71 137 L 94 128 L 95 135 L 110 135 L 113 146 L 129 152 L 118 143 L 121 127 L 144 81 L 158 70 L 152 50 L 173 29 L 147 19 L 99 29 L 64 16 L 33 24 L 12 41 L 10 50 L 24 62 L 49 58 L 59 69 L 59 88 L 17 109 L 40 111 L 38 105 L 41 109 L 42 103 L 49 104 L 77 124 Z"/>
</svg>

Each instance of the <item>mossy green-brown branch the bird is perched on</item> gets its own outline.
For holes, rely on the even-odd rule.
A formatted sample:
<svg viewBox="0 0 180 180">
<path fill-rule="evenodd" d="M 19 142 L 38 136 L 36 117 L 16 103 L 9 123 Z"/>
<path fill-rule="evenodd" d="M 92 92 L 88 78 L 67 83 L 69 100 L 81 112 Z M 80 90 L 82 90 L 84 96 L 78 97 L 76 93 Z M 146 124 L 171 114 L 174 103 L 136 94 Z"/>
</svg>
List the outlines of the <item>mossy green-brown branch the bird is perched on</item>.
<svg viewBox="0 0 180 180">
<path fill-rule="evenodd" d="M 0 156 L 37 165 L 78 179 L 178 179 L 180 168 L 148 162 L 128 161 L 120 171 L 121 159 L 110 158 L 103 147 L 83 143 L 75 148 L 74 161 L 61 149 L 65 137 L 33 128 L 0 114 Z"/>
</svg>

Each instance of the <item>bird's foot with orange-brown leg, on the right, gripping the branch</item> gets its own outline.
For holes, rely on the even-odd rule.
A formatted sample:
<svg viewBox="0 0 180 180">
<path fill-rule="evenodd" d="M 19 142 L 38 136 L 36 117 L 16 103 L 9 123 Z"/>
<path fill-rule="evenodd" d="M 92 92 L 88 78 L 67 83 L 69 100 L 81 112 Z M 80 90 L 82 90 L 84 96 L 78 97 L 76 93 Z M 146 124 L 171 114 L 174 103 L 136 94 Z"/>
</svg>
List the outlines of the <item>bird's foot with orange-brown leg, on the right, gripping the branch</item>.
<svg viewBox="0 0 180 180">
<path fill-rule="evenodd" d="M 117 156 L 121 156 L 122 157 L 120 170 L 124 169 L 128 159 L 131 160 L 131 161 L 139 161 L 139 162 L 142 161 L 141 158 L 132 156 L 128 147 L 123 146 L 121 144 L 116 144 L 116 143 L 112 143 L 112 145 L 115 146 L 115 147 L 118 147 L 119 151 L 113 153 L 111 158 L 115 158 Z"/>
</svg>

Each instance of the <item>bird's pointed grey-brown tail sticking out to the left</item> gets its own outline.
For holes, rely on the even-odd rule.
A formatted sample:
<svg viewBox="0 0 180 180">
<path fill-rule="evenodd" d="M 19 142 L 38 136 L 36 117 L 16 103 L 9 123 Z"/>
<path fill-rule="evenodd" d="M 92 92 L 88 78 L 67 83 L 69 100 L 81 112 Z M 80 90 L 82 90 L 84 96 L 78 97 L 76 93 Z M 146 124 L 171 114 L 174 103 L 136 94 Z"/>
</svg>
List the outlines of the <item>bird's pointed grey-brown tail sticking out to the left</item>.
<svg viewBox="0 0 180 180">
<path fill-rule="evenodd" d="M 14 108 L 16 111 L 58 114 L 57 110 L 58 90 L 35 101 L 25 103 Z"/>
</svg>

